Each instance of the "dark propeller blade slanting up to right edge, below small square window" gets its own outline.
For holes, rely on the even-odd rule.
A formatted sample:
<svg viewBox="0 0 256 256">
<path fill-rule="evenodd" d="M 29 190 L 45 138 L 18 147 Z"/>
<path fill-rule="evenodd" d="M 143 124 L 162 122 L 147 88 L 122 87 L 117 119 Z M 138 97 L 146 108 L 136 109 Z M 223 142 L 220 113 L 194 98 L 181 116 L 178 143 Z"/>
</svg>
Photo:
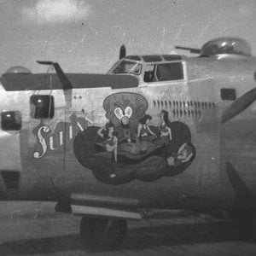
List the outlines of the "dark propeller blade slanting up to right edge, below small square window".
<svg viewBox="0 0 256 256">
<path fill-rule="evenodd" d="M 256 100 L 256 88 L 247 91 L 240 96 L 235 102 L 233 102 L 229 108 L 224 110 L 221 117 L 221 123 L 224 124 L 228 120 L 235 117 L 238 113 L 241 113 L 247 109 Z"/>
</svg>

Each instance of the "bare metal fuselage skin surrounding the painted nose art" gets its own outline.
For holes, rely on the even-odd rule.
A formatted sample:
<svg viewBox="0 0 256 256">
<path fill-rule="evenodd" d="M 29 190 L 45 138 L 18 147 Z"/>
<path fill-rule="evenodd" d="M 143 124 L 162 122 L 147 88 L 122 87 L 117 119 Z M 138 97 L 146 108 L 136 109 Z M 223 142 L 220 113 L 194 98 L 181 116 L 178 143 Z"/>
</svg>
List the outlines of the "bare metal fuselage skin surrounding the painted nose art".
<svg viewBox="0 0 256 256">
<path fill-rule="evenodd" d="M 248 193 L 255 199 L 256 104 L 224 124 L 220 117 L 232 103 L 221 98 L 221 89 L 235 89 L 238 98 L 255 87 L 256 59 L 236 55 L 184 58 L 183 70 L 183 80 L 141 82 L 137 88 L 116 90 L 6 91 L 0 86 L 0 111 L 19 110 L 22 116 L 20 131 L 0 131 L 0 171 L 20 173 L 17 189 L 8 190 L 1 177 L 2 198 L 59 201 L 61 196 L 84 193 L 136 199 L 142 208 L 201 210 L 242 207 L 240 202 Z M 81 120 L 105 125 L 102 102 L 119 92 L 133 92 L 147 99 L 147 112 L 153 117 L 150 125 L 158 125 L 159 113 L 166 109 L 171 121 L 189 127 L 196 155 L 184 172 L 152 182 L 135 179 L 114 185 L 101 183 L 90 169 L 79 164 L 73 141 L 86 129 Z M 54 96 L 53 119 L 32 119 L 30 97 L 35 94 Z M 71 118 L 74 113 L 79 119 Z M 36 129 L 42 126 L 46 128 Z M 227 172 L 228 163 L 238 178 Z M 239 194 L 245 188 L 248 193 Z M 255 200 L 250 205 L 255 207 Z"/>
</svg>

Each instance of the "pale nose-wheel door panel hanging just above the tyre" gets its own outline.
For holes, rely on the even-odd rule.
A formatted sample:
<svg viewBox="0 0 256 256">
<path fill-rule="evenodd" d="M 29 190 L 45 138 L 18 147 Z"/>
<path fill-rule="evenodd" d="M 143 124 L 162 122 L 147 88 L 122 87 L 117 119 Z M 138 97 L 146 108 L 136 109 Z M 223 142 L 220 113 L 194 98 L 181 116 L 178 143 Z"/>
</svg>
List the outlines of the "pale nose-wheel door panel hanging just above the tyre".
<svg viewBox="0 0 256 256">
<path fill-rule="evenodd" d="M 138 209 L 135 199 L 106 195 L 72 194 L 71 209 L 74 215 L 143 219 L 143 210 Z"/>
</svg>

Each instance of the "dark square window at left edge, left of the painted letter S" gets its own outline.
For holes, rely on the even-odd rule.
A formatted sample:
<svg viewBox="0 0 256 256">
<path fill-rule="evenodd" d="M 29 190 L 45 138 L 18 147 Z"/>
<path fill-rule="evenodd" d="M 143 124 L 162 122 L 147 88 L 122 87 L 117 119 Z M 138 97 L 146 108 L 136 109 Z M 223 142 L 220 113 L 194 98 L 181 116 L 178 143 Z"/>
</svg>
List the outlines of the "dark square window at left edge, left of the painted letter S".
<svg viewBox="0 0 256 256">
<path fill-rule="evenodd" d="M 19 131 L 21 129 L 20 111 L 4 111 L 1 113 L 1 126 L 4 131 Z"/>
</svg>

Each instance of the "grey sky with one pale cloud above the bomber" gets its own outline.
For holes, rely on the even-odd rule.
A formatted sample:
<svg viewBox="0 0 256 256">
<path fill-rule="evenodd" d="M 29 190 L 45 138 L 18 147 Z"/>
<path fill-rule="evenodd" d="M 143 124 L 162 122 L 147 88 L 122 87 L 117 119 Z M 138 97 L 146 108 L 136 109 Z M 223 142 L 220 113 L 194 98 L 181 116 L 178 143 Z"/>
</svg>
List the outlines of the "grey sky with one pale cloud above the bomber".
<svg viewBox="0 0 256 256">
<path fill-rule="evenodd" d="M 256 55 L 255 0 L 0 0 L 0 73 L 57 61 L 66 73 L 106 73 L 128 55 L 172 54 L 212 38 L 243 38 Z"/>
</svg>

